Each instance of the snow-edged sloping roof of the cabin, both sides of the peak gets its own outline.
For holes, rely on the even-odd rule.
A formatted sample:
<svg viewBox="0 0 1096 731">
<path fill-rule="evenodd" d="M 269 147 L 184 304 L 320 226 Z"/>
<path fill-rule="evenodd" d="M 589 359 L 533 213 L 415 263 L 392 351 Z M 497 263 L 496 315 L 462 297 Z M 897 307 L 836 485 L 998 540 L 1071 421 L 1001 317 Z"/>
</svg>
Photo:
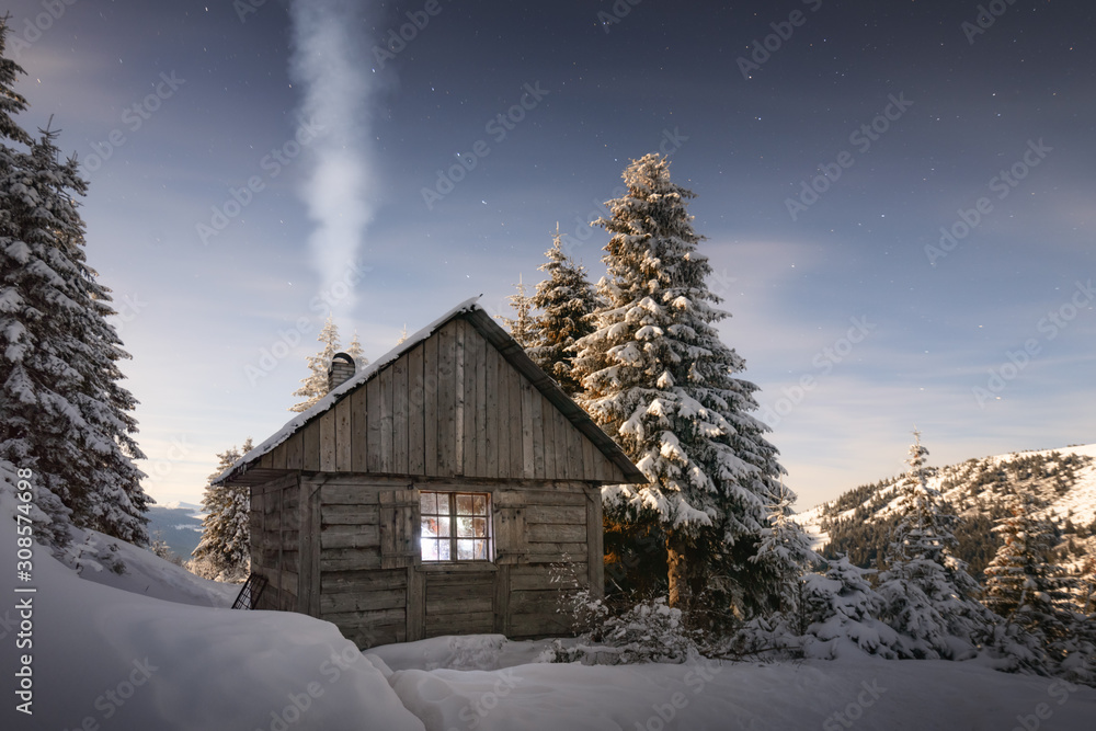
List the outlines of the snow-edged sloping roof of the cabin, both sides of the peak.
<svg viewBox="0 0 1096 731">
<path fill-rule="evenodd" d="M 240 457 L 240 459 L 233 462 L 231 467 L 218 475 L 213 482 L 215 484 L 220 484 L 229 478 L 240 477 L 242 472 L 246 472 L 249 468 L 253 467 L 263 455 L 275 449 L 279 444 L 284 443 L 309 422 L 319 419 L 335 403 L 342 400 L 344 396 L 367 382 L 386 366 L 390 365 L 393 361 L 398 359 L 404 353 L 409 352 L 434 334 L 434 332 L 439 330 L 449 320 L 466 313 L 475 316 L 472 319 L 480 323 L 478 327 L 481 331 L 484 328 L 492 331 L 489 340 L 495 340 L 496 347 L 499 347 L 500 342 L 505 345 L 499 349 L 503 357 L 510 361 L 511 365 L 514 365 L 518 370 L 524 372 L 527 377 L 530 377 L 533 386 L 540 390 L 540 392 L 544 393 L 545 397 L 556 406 L 556 408 L 563 412 L 571 423 L 574 424 L 574 426 L 591 442 L 593 442 L 594 446 L 596 446 L 602 454 L 620 467 L 625 476 L 629 478 L 630 482 L 646 482 L 647 478 L 639 471 L 638 468 L 636 468 L 624 452 L 620 450 L 619 446 L 617 446 L 617 444 L 613 442 L 613 439 L 605 434 L 605 432 L 603 432 L 592 419 L 590 419 L 585 411 L 580 409 L 566 393 L 563 393 L 562 390 L 560 390 L 555 380 L 544 374 L 532 361 L 529 361 L 521 345 L 518 345 L 505 330 L 494 323 L 490 315 L 488 315 L 487 310 L 479 306 L 478 301 L 479 297 L 466 299 L 447 311 L 445 315 L 427 324 L 425 328 L 422 328 L 414 334 L 409 335 L 402 343 L 388 351 L 361 372 L 354 374 L 354 376 L 331 390 L 327 396 L 317 401 L 312 408 L 307 411 L 302 411 L 287 421 L 282 429 L 275 432 L 254 449 Z"/>
</svg>

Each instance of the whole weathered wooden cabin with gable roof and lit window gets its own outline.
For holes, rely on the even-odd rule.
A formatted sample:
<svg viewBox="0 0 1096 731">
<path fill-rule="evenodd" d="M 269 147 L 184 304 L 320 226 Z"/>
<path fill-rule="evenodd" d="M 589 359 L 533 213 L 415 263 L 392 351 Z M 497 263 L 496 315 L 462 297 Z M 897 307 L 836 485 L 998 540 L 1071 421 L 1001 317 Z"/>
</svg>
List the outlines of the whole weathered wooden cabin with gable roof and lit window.
<svg viewBox="0 0 1096 731">
<path fill-rule="evenodd" d="M 569 558 L 600 593 L 600 487 L 647 480 L 471 299 L 217 481 L 251 489 L 254 608 L 365 648 L 567 632 L 550 564 Z"/>
</svg>

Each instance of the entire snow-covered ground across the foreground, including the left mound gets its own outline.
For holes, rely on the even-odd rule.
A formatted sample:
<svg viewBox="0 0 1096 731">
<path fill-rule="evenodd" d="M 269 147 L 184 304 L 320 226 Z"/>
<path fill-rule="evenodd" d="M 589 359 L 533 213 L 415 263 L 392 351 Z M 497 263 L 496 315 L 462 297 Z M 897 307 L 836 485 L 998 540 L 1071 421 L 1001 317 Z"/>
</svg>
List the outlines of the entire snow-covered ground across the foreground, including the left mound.
<svg viewBox="0 0 1096 731">
<path fill-rule="evenodd" d="M 10 494 L 0 498 L 0 546 L 14 546 Z M 0 728 L 1008 731 L 1091 729 L 1096 718 L 1092 688 L 974 663 L 854 655 L 589 667 L 537 663 L 544 642 L 496 635 L 363 655 L 333 625 L 226 609 L 235 586 L 210 586 L 148 551 L 121 550 L 129 572 L 107 576 L 84 566 L 92 581 L 35 550 L 33 647 L 15 644 L 15 602 L 26 595 L 10 594 L 0 617 Z M 15 711 L 23 653 L 33 654 L 33 717 Z"/>
</svg>

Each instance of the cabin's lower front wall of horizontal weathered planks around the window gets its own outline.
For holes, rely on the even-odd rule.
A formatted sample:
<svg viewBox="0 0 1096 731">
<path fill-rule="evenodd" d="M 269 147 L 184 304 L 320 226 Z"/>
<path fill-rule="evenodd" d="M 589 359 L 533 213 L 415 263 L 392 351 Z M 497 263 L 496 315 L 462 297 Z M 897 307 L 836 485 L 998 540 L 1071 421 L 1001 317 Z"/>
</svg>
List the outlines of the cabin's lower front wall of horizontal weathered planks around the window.
<svg viewBox="0 0 1096 731">
<path fill-rule="evenodd" d="M 423 564 L 419 490 L 490 492 L 495 560 Z M 601 493 L 581 482 L 421 480 L 409 488 L 370 475 L 319 475 L 306 476 L 301 493 L 318 509 L 309 614 L 361 648 L 439 635 L 566 633 L 551 567 L 564 553 L 576 587 L 601 587 Z"/>
</svg>

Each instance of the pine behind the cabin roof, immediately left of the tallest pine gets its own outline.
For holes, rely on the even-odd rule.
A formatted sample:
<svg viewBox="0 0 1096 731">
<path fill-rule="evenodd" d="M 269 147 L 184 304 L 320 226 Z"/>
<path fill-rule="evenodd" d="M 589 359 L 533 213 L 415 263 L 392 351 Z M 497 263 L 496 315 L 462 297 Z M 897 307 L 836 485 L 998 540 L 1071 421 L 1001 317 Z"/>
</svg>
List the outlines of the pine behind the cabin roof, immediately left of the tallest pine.
<svg viewBox="0 0 1096 731">
<path fill-rule="evenodd" d="M 548 278 L 537 285 L 529 301 L 540 313 L 533 319 L 526 352 L 541 370 L 556 379 L 563 392 L 573 397 L 582 389 L 571 375 L 573 345 L 594 331 L 590 316 L 597 307 L 597 299 L 586 279 L 585 267 L 563 253 L 560 238 L 557 226 L 552 247 L 545 252 L 548 261 L 539 266 L 548 273 Z"/>
</svg>

